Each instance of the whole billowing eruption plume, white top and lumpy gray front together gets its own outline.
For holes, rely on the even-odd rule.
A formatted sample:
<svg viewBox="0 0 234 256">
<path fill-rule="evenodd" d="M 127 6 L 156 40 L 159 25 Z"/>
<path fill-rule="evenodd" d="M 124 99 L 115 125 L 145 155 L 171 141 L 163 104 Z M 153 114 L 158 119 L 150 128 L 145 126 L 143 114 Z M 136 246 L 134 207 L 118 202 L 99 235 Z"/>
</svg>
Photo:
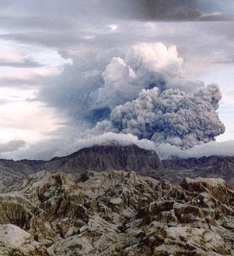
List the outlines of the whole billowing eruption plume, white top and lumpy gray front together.
<svg viewBox="0 0 234 256">
<path fill-rule="evenodd" d="M 158 145 L 192 148 L 225 132 L 218 119 L 218 85 L 186 80 L 174 46 L 135 44 L 124 59 L 114 57 L 102 76 L 92 107 L 109 108 L 110 122 L 107 116 L 90 133 L 131 133 Z"/>
</svg>

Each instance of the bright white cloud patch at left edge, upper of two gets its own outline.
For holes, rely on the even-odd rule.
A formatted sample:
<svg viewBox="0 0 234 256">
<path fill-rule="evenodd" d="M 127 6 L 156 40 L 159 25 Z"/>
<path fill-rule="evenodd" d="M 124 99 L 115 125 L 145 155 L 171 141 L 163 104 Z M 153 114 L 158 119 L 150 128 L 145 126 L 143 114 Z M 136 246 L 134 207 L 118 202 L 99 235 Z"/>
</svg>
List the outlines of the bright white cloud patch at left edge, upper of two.
<svg viewBox="0 0 234 256">
<path fill-rule="evenodd" d="M 56 49 L 17 41 L 0 39 L 1 85 L 11 81 L 38 80 L 47 76 L 58 76 L 66 65 L 72 65 L 72 59 L 63 58 Z M 12 66 L 31 63 L 29 66 Z M 5 66 L 4 66 L 5 64 Z M 12 64 L 12 65 L 11 65 Z M 33 66 L 37 65 L 37 66 Z M 15 83 L 16 85 L 16 83 Z"/>
</svg>

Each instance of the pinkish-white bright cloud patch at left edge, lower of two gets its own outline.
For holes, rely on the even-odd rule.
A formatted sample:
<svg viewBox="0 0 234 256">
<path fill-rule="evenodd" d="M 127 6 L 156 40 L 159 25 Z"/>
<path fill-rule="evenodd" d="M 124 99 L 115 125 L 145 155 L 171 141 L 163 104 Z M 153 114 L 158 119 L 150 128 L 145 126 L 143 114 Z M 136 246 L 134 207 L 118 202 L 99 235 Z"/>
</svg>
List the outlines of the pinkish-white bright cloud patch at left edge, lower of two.
<svg viewBox="0 0 234 256">
<path fill-rule="evenodd" d="M 25 140 L 36 143 L 51 137 L 65 119 L 55 115 L 53 109 L 37 101 L 13 101 L 0 105 L 0 143 L 9 140 Z"/>
</svg>

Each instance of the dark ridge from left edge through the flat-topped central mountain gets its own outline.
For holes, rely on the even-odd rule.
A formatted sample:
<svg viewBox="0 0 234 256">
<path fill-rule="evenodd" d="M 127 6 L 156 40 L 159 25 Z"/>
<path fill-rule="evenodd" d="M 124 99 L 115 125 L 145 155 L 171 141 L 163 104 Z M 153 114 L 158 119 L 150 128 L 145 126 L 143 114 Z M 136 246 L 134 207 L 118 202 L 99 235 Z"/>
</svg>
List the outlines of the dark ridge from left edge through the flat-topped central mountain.
<svg viewBox="0 0 234 256">
<path fill-rule="evenodd" d="M 134 170 L 142 176 L 163 175 L 162 162 L 155 151 L 138 148 L 136 145 L 94 146 L 83 148 L 72 155 L 52 158 L 50 161 L 24 159 L 15 162 L 0 159 L 0 189 L 40 170 L 73 174 L 90 170 L 95 172 Z"/>
</svg>

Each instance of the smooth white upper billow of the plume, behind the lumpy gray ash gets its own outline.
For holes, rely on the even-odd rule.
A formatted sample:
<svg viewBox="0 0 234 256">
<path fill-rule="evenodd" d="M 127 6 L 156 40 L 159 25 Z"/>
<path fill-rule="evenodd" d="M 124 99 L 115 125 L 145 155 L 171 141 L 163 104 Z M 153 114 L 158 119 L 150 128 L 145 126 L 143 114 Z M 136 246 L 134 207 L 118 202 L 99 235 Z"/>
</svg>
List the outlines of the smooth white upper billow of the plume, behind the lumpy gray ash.
<svg viewBox="0 0 234 256">
<path fill-rule="evenodd" d="M 124 59 L 114 57 L 106 66 L 104 84 L 92 94 L 93 108 L 114 108 L 137 98 L 148 87 L 179 87 L 184 84 L 182 66 L 183 59 L 175 46 L 134 44 Z M 175 85 L 175 77 L 181 79 L 180 84 L 176 81 Z"/>
</svg>

